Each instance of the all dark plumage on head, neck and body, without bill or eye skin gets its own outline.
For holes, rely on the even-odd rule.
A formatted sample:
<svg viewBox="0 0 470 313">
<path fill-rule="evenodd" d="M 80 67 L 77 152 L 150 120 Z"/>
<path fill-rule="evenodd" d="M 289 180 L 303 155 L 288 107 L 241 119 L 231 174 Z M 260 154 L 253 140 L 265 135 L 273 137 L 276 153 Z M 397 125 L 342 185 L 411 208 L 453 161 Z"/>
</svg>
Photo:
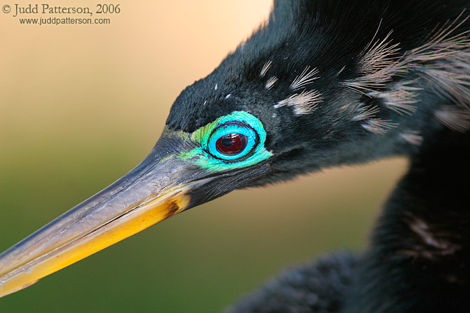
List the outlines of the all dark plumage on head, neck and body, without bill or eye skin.
<svg viewBox="0 0 470 313">
<path fill-rule="evenodd" d="M 470 200 L 457 181 L 470 174 L 469 8 L 468 0 L 277 0 L 265 26 L 176 99 L 172 129 L 194 131 L 235 110 L 260 118 L 274 157 L 269 172 L 244 186 L 411 159 L 363 255 L 295 268 L 229 312 L 470 312 Z M 389 52 L 367 68 L 380 42 Z M 322 103 L 304 115 L 276 106 L 306 67 L 318 69 L 305 89 Z M 278 81 L 265 88 L 269 75 Z M 402 97 L 391 103 L 394 90 Z M 354 116 L 364 111 L 374 117 Z"/>
</svg>

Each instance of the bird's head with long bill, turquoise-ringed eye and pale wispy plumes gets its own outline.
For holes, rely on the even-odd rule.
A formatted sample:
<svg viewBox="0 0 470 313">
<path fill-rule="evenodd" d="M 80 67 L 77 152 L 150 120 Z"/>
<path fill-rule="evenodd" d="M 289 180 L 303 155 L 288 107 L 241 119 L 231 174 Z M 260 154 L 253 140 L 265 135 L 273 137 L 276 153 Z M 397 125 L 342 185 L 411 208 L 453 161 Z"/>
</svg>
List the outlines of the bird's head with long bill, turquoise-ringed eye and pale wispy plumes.
<svg viewBox="0 0 470 313">
<path fill-rule="evenodd" d="M 276 1 L 267 24 L 182 91 L 136 168 L 3 252 L 0 295 L 235 188 L 467 130 L 467 19 L 455 11 L 439 25 L 432 6 L 372 2 Z"/>
</svg>

